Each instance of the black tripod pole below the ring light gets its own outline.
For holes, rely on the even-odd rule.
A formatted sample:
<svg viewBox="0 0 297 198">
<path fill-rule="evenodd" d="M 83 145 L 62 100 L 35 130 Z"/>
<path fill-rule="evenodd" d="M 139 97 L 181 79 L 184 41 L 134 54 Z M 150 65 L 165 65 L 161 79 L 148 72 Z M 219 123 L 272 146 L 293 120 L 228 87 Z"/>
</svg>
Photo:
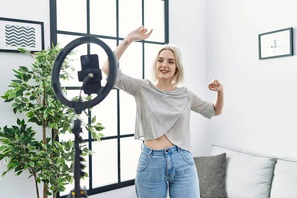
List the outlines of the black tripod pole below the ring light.
<svg viewBox="0 0 297 198">
<path fill-rule="evenodd" d="M 85 189 L 80 187 L 80 178 L 81 175 L 84 174 L 81 171 L 82 168 L 82 157 L 80 154 L 82 150 L 79 147 L 79 143 L 82 142 L 82 137 L 80 133 L 82 132 L 81 128 L 81 120 L 76 119 L 74 120 L 74 126 L 72 128 L 72 133 L 74 134 L 74 142 L 75 142 L 75 157 L 74 157 L 74 189 L 70 192 L 68 198 L 88 198 L 87 192 Z"/>
</svg>

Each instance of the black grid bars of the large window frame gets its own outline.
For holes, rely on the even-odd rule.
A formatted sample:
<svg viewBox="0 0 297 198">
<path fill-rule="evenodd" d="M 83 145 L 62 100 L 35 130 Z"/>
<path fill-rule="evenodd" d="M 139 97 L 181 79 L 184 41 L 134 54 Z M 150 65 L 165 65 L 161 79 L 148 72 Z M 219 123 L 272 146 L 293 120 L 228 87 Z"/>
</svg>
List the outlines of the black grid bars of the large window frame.
<svg viewBox="0 0 297 198">
<path fill-rule="evenodd" d="M 142 25 L 145 26 L 145 0 L 142 1 Z M 142 43 L 142 68 L 143 68 L 143 79 L 145 78 L 145 44 L 158 44 L 158 45 L 163 45 L 166 43 L 169 43 L 169 0 L 162 0 L 164 1 L 164 43 L 163 42 L 154 42 L 154 41 L 136 41 Z M 87 5 L 87 33 L 77 33 L 77 32 L 68 32 L 68 31 L 61 31 L 57 30 L 57 3 L 56 0 L 50 0 L 49 1 L 49 18 L 50 18 L 50 45 L 56 45 L 57 44 L 57 35 L 58 34 L 63 34 L 63 35 L 72 35 L 72 36 L 94 36 L 96 38 L 101 38 L 101 39 L 112 39 L 116 40 L 116 45 L 119 45 L 120 41 L 123 41 L 125 38 L 119 37 L 119 0 L 116 0 L 116 37 L 112 36 L 103 36 L 103 35 L 95 35 L 95 34 L 90 34 L 90 0 L 86 0 L 86 5 Z M 90 54 L 90 45 L 87 46 L 87 52 Z M 118 67 L 120 67 L 120 63 L 118 64 Z M 65 87 L 66 90 L 79 90 L 80 87 Z M 113 88 L 115 89 L 115 88 Z M 121 138 L 127 138 L 127 137 L 134 137 L 134 134 L 128 134 L 128 135 L 120 135 L 120 106 L 119 106 L 119 90 L 117 90 L 117 135 L 116 136 L 110 136 L 110 137 L 105 137 L 101 138 L 101 141 L 104 140 L 111 140 L 111 139 L 117 139 L 117 150 L 118 150 L 118 183 L 116 184 L 111 184 L 111 185 L 106 185 L 98 188 L 93 188 L 93 182 L 92 182 L 92 176 L 93 176 L 93 171 L 92 171 L 92 156 L 89 155 L 89 190 L 87 190 L 88 196 L 96 195 L 99 193 L 107 192 L 107 191 L 112 191 L 128 186 L 135 185 L 135 179 L 125 181 L 125 182 L 120 182 L 121 181 L 121 160 L 120 160 L 120 140 Z M 88 123 L 91 124 L 91 111 L 88 109 L 89 113 L 89 120 Z M 56 141 L 58 140 L 58 137 L 56 137 Z M 92 142 L 94 140 L 92 139 L 92 134 L 89 133 L 89 138 L 84 139 L 84 141 L 88 141 L 89 143 L 89 149 L 92 150 Z M 59 193 L 57 195 L 57 198 L 67 198 L 68 195 L 65 196 L 60 196 Z"/>
</svg>

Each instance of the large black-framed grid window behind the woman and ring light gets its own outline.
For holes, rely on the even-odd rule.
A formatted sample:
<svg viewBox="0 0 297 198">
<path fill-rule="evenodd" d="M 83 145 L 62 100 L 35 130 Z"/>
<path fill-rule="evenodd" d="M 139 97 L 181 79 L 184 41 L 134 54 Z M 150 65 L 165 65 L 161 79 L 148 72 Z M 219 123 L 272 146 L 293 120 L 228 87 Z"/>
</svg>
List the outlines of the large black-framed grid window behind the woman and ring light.
<svg viewBox="0 0 297 198">
<path fill-rule="evenodd" d="M 94 36 L 106 43 L 112 50 L 125 36 L 140 25 L 153 34 L 146 41 L 132 43 L 122 56 L 118 67 L 123 73 L 151 80 L 152 59 L 161 45 L 168 43 L 168 0 L 50 0 L 50 40 L 60 47 L 82 36 Z M 104 50 L 95 44 L 78 46 L 73 62 L 81 70 L 80 56 L 87 53 L 99 55 L 99 65 L 107 58 Z M 131 61 L 133 58 L 133 61 Z M 71 72 L 73 73 L 73 72 Z M 68 98 L 79 96 L 80 83 L 77 72 L 69 82 L 62 82 L 68 91 Z M 102 72 L 102 86 L 105 75 Z M 88 168 L 85 171 L 90 178 L 81 180 L 88 195 L 95 195 L 134 185 L 136 167 L 143 141 L 134 140 L 136 106 L 135 100 L 122 90 L 113 89 L 89 115 L 96 115 L 97 121 L 106 128 L 102 131 L 105 138 L 94 141 L 88 131 L 83 139 L 88 147 L 96 152 L 94 156 L 85 156 Z M 83 114 L 82 114 L 83 115 Z M 91 118 L 82 116 L 85 122 Z M 84 129 L 83 129 L 84 130 Z M 74 139 L 72 134 L 59 137 L 61 140 Z M 74 186 L 67 186 L 66 192 L 59 198 L 66 198 Z"/>
</svg>

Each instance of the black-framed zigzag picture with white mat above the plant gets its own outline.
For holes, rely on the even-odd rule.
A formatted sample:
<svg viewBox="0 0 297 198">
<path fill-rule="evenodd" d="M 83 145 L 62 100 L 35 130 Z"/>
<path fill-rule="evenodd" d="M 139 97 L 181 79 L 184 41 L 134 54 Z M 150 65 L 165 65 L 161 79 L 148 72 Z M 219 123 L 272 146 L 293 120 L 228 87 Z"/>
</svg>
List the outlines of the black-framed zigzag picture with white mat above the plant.
<svg viewBox="0 0 297 198">
<path fill-rule="evenodd" d="M 44 23 L 0 17 L 0 51 L 19 52 L 18 48 L 45 49 Z"/>
</svg>

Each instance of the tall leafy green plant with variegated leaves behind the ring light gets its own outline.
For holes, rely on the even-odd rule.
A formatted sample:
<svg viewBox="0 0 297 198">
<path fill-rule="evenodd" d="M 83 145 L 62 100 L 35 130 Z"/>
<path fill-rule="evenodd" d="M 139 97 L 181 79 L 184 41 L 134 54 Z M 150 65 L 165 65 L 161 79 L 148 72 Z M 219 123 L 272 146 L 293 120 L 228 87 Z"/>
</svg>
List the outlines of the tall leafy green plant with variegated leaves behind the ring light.
<svg viewBox="0 0 297 198">
<path fill-rule="evenodd" d="M 0 160 L 4 159 L 7 164 L 3 177 L 7 172 L 14 170 L 16 175 L 28 170 L 35 179 L 37 198 L 39 191 L 37 184 L 44 183 L 43 198 L 52 195 L 56 198 L 57 192 L 65 190 L 65 185 L 73 182 L 73 159 L 75 150 L 73 142 L 57 142 L 56 138 L 60 134 L 71 133 L 73 119 L 79 117 L 74 109 L 60 103 L 56 99 L 51 87 L 51 70 L 54 60 L 61 48 L 58 45 L 32 53 L 26 49 L 18 49 L 21 53 L 26 53 L 34 58 L 30 68 L 19 66 L 14 70 L 16 79 L 11 80 L 8 85 L 9 90 L 3 92 L 1 96 L 4 102 L 11 102 L 13 112 L 24 113 L 28 123 L 34 123 L 41 128 L 41 131 L 27 127 L 25 119 L 17 118 L 16 124 L 11 127 L 1 127 L 0 129 Z M 74 51 L 69 55 L 74 54 Z M 73 59 L 65 58 L 62 66 L 60 78 L 67 80 L 71 74 L 67 69 L 72 69 Z M 63 92 L 67 94 L 65 88 Z M 74 97 L 73 100 L 77 100 Z M 91 96 L 82 97 L 83 101 L 92 99 Z M 84 111 L 88 116 L 88 113 Z M 100 141 L 104 135 L 101 131 L 104 127 L 101 123 L 95 123 L 96 116 L 92 118 L 92 124 L 82 122 L 83 127 L 92 133 L 92 138 Z M 33 125 L 34 125 L 33 124 Z M 47 136 L 47 132 L 52 132 Z M 42 133 L 42 140 L 36 140 L 35 134 Z M 82 155 L 92 155 L 92 151 L 81 144 Z M 30 176 L 30 177 L 31 177 Z M 88 175 L 85 173 L 85 176 Z M 49 190 L 51 192 L 49 192 Z"/>
</svg>

